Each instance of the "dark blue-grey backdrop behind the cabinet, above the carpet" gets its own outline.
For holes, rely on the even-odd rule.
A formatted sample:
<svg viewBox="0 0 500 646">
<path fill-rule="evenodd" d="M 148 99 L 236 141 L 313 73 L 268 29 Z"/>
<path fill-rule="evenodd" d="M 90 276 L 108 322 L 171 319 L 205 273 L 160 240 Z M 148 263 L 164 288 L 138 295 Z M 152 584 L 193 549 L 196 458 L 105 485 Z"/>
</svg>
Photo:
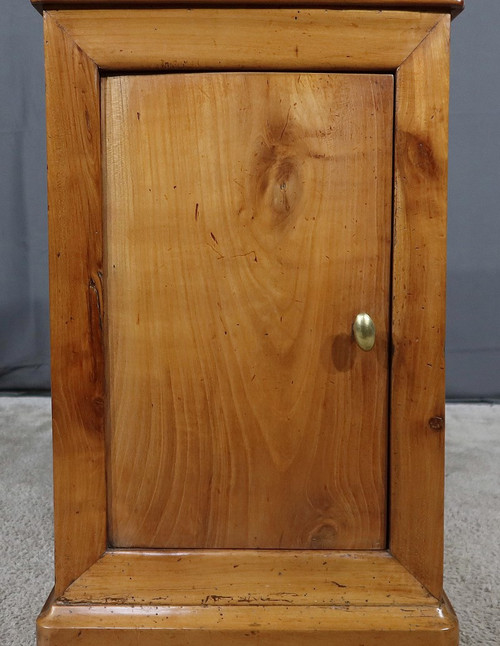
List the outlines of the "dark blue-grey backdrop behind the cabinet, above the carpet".
<svg viewBox="0 0 500 646">
<path fill-rule="evenodd" d="M 0 9 L 0 389 L 46 389 L 42 19 L 29 0 Z M 452 29 L 449 398 L 500 398 L 499 27 L 499 0 L 469 0 Z"/>
</svg>

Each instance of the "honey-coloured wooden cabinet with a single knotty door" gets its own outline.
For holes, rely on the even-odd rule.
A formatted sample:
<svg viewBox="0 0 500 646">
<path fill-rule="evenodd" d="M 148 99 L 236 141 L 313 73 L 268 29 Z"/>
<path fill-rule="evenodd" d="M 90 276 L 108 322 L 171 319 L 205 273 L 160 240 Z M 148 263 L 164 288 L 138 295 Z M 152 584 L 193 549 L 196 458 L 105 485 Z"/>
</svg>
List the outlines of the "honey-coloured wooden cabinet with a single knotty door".
<svg viewBox="0 0 500 646">
<path fill-rule="evenodd" d="M 40 646 L 457 644 L 442 552 L 461 2 L 44 8 L 56 579 Z"/>
</svg>

